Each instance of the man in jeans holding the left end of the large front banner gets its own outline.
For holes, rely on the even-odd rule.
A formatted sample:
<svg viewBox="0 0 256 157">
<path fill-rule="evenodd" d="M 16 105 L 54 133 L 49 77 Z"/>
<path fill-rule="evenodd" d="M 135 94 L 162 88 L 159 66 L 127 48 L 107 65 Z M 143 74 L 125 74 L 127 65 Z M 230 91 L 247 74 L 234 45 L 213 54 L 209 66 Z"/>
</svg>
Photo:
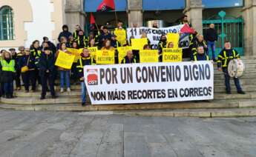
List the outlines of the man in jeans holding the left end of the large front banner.
<svg viewBox="0 0 256 157">
<path fill-rule="evenodd" d="M 95 63 L 93 58 L 90 56 L 88 49 L 83 49 L 81 53 L 81 58 L 77 61 L 76 70 L 79 77 L 79 81 L 81 82 L 81 98 L 82 98 L 82 106 L 86 104 L 86 87 L 85 87 L 85 77 L 84 77 L 84 67 L 86 65 L 91 65 Z"/>
</svg>

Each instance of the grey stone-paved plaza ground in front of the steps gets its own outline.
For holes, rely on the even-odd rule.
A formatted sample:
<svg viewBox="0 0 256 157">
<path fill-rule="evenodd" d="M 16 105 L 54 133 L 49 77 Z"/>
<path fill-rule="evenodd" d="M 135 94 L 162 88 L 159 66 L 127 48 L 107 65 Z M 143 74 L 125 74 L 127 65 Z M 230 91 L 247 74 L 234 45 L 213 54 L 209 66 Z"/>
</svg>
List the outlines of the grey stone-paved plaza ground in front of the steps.
<svg viewBox="0 0 256 157">
<path fill-rule="evenodd" d="M 256 156 L 256 118 L 0 110 L 0 156 Z"/>
</svg>

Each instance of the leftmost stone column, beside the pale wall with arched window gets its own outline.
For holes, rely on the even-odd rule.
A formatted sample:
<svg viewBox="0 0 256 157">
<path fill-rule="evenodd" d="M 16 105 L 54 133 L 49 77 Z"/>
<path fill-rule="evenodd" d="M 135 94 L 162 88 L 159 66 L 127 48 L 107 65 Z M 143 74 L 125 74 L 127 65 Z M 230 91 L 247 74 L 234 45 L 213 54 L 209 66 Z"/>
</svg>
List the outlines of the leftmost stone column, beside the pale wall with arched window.
<svg viewBox="0 0 256 157">
<path fill-rule="evenodd" d="M 65 7 L 66 24 L 68 24 L 70 32 L 75 30 L 76 24 L 85 28 L 85 11 L 83 0 L 68 0 Z"/>
</svg>

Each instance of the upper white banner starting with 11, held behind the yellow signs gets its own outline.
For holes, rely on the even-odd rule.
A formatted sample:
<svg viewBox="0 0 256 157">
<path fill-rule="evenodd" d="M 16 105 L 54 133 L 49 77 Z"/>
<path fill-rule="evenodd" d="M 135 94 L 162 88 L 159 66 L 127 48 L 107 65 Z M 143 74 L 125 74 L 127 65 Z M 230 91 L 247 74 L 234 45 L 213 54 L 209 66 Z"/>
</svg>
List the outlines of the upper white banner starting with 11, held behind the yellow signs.
<svg viewBox="0 0 256 157">
<path fill-rule="evenodd" d="M 163 28 L 150 28 L 150 27 L 137 27 L 137 28 L 127 28 L 127 39 L 130 40 L 131 36 L 134 36 L 135 39 L 140 39 L 143 32 L 147 33 L 149 41 L 151 41 L 151 47 L 157 49 L 157 45 L 160 41 L 160 37 L 168 33 L 180 33 L 180 29 L 184 24 L 176 25 L 173 27 L 163 27 Z M 186 34 L 184 35 L 186 36 Z M 183 37 L 184 37 L 183 36 Z M 188 48 L 186 44 L 183 44 L 184 41 L 189 43 L 188 38 L 182 38 L 183 41 L 180 42 L 181 48 Z"/>
</svg>

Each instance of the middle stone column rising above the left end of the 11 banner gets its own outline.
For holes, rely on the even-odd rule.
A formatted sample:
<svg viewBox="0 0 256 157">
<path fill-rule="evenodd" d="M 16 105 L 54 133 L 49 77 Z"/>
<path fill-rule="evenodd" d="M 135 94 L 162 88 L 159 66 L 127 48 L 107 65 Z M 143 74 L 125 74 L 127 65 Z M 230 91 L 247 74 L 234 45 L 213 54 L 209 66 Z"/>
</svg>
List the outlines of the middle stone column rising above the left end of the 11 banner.
<svg viewBox="0 0 256 157">
<path fill-rule="evenodd" d="M 137 23 L 138 27 L 142 26 L 142 0 L 128 0 L 127 13 L 129 27 L 134 23 Z"/>
</svg>

